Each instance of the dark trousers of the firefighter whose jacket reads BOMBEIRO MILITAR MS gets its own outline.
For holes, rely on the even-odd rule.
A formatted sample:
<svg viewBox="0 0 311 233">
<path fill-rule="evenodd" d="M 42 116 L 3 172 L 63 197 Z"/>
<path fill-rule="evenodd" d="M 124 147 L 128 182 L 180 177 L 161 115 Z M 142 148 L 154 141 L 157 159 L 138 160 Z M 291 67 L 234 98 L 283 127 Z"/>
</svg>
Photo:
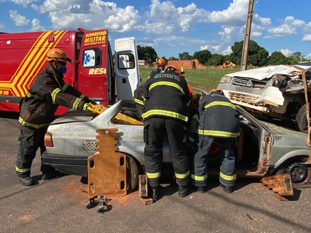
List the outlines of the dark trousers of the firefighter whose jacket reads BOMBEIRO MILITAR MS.
<svg viewBox="0 0 311 233">
<path fill-rule="evenodd" d="M 144 123 L 145 170 L 151 187 L 160 185 L 163 160 L 163 137 L 167 133 L 176 182 L 190 182 L 189 158 L 186 148 L 186 123 L 165 117 L 150 117 Z"/>
</svg>

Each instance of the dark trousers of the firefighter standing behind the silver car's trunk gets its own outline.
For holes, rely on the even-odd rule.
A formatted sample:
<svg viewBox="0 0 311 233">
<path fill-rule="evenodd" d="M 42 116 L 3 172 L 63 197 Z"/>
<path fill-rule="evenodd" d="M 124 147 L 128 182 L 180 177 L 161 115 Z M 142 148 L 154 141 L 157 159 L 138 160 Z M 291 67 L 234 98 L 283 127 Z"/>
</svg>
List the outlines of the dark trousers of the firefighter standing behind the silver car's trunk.
<svg viewBox="0 0 311 233">
<path fill-rule="evenodd" d="M 49 173 L 54 171 L 54 168 L 49 167 L 42 161 L 42 153 L 45 151 L 44 146 L 44 135 L 46 133 L 47 127 L 42 127 L 39 129 L 21 129 L 21 134 L 18 138 L 20 141 L 17 159 L 16 159 L 16 174 L 19 177 L 25 178 L 30 176 L 30 168 L 33 159 L 36 156 L 36 152 L 40 147 L 41 154 L 41 171 L 43 173 Z"/>
</svg>

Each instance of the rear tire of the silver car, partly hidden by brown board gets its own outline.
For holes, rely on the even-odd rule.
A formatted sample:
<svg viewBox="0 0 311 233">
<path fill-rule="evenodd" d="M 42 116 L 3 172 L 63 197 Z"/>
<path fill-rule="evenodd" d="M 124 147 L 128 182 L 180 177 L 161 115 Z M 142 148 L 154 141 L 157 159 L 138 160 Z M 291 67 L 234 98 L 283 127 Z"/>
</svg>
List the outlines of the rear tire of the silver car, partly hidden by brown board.
<svg viewBox="0 0 311 233">
<path fill-rule="evenodd" d="M 138 166 L 135 159 L 126 155 L 126 190 L 127 193 L 134 191 L 138 184 Z"/>
</svg>

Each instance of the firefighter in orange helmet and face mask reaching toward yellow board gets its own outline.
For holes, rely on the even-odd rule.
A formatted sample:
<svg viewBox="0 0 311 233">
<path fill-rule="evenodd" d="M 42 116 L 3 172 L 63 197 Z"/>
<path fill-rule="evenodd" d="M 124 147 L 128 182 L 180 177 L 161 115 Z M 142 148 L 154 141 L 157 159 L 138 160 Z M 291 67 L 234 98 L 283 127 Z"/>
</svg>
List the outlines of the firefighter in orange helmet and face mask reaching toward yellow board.
<svg viewBox="0 0 311 233">
<path fill-rule="evenodd" d="M 21 134 L 16 159 L 16 174 L 22 185 L 32 185 L 30 168 L 37 149 L 45 151 L 44 135 L 53 121 L 54 113 L 59 105 L 87 111 L 89 98 L 63 81 L 66 62 L 72 60 L 60 49 L 51 49 L 47 53 L 48 65 L 35 78 L 26 97 L 23 99 L 19 122 Z M 41 157 L 42 180 L 59 177 L 60 173 L 45 165 Z"/>
</svg>

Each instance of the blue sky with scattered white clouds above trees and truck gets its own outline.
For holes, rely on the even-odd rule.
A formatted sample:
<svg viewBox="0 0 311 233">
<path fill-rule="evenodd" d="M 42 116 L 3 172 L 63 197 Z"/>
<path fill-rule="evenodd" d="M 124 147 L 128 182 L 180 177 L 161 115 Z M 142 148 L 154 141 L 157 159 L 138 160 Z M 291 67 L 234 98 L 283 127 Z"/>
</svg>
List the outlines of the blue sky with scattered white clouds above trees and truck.
<svg viewBox="0 0 311 233">
<path fill-rule="evenodd" d="M 248 0 L 0 0 L 0 6 L 3 32 L 107 28 L 111 44 L 135 36 L 137 44 L 168 58 L 203 49 L 229 54 L 244 39 Z M 310 0 L 260 0 L 251 39 L 269 53 L 300 51 L 311 58 L 309 9 Z"/>
</svg>

